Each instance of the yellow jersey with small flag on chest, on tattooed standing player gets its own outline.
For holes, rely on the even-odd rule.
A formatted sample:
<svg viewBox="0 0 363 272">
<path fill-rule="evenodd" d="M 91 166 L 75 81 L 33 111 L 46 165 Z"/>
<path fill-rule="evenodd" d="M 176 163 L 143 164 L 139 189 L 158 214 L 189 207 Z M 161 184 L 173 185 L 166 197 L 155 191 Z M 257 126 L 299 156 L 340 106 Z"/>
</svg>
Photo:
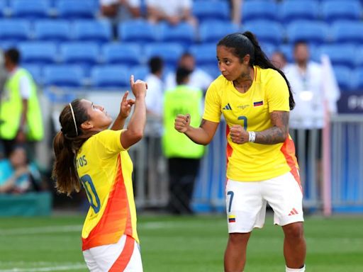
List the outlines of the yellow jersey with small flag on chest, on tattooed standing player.
<svg viewBox="0 0 363 272">
<path fill-rule="evenodd" d="M 242 94 L 232 81 L 222 75 L 206 93 L 203 119 L 219 123 L 220 115 L 227 123 L 227 177 L 235 181 L 263 181 L 288 171 L 298 179 L 294 143 L 288 137 L 277 145 L 247 142 L 238 145 L 229 137 L 229 128 L 242 125 L 247 131 L 259 132 L 272 127 L 272 111 L 289 111 L 289 89 L 283 77 L 274 69 L 255 66 L 252 86 Z"/>
</svg>

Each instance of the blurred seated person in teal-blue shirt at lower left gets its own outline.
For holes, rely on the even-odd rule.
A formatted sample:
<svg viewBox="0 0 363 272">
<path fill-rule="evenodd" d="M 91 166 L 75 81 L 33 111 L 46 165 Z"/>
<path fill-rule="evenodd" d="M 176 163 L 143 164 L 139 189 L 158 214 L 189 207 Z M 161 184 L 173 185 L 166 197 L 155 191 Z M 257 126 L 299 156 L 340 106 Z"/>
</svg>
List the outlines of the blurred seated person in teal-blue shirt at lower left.
<svg viewBox="0 0 363 272">
<path fill-rule="evenodd" d="M 0 193 L 25 193 L 40 181 L 40 173 L 33 164 L 28 164 L 26 149 L 16 146 L 9 159 L 0 161 Z"/>
</svg>

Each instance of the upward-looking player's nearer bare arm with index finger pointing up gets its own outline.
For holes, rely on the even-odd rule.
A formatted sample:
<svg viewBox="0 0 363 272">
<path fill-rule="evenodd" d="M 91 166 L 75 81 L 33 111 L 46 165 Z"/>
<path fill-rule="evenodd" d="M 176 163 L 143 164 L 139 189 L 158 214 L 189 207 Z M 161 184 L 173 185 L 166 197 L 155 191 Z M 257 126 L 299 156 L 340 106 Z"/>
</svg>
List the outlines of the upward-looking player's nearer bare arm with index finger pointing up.
<svg viewBox="0 0 363 272">
<path fill-rule="evenodd" d="M 134 82 L 133 76 L 130 77 L 130 84 L 135 96 L 135 108 L 128 128 L 121 134 L 120 138 L 121 145 L 125 149 L 141 140 L 146 123 L 145 96 L 147 85 L 141 80 Z"/>
</svg>

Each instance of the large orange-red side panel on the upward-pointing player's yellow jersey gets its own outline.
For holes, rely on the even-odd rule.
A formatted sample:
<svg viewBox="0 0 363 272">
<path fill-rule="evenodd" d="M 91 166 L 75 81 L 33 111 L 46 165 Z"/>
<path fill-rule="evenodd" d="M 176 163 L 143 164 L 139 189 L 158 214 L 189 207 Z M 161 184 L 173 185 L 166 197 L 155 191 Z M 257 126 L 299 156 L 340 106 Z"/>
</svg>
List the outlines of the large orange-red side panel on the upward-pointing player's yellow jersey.
<svg viewBox="0 0 363 272">
<path fill-rule="evenodd" d="M 91 249 L 94 246 L 115 244 L 123 234 L 132 236 L 131 215 L 128 207 L 128 196 L 121 167 L 121 155 L 117 157 L 116 178 L 113 188 L 108 196 L 107 205 L 101 220 L 89 236 L 82 238 L 82 250 Z"/>
</svg>

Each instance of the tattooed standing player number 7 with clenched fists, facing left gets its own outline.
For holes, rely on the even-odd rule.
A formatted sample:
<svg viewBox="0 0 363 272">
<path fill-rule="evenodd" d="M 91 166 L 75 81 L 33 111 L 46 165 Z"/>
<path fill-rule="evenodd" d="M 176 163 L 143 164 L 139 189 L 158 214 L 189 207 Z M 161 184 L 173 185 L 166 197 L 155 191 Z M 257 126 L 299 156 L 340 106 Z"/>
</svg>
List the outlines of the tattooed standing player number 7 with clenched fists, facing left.
<svg viewBox="0 0 363 272">
<path fill-rule="evenodd" d="M 250 32 L 220 40 L 217 59 L 222 75 L 208 88 L 200 127 L 190 126 L 190 115 L 178 115 L 175 129 L 207 145 L 221 114 L 227 122 L 225 271 L 243 271 L 248 239 L 254 227 L 264 225 L 267 202 L 274 223 L 284 230 L 286 271 L 305 271 L 302 191 L 289 136 L 294 108 L 289 82 Z"/>
</svg>

